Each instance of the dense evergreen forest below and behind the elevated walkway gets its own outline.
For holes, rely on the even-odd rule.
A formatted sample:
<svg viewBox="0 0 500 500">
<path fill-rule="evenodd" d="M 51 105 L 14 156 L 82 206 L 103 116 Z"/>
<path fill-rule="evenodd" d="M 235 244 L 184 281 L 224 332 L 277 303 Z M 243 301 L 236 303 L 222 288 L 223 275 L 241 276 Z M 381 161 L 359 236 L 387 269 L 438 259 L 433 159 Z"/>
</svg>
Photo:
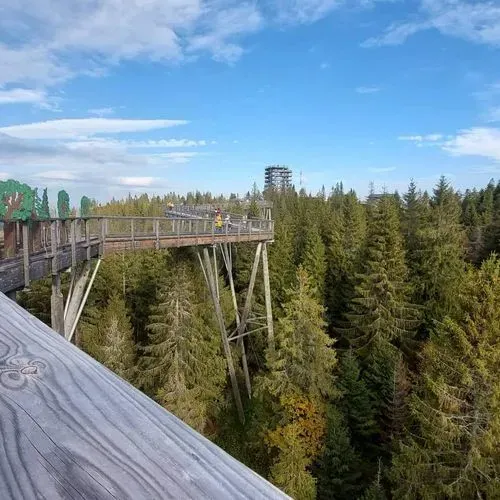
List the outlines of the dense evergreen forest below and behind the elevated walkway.
<svg viewBox="0 0 500 500">
<path fill-rule="evenodd" d="M 500 498 L 500 183 L 460 193 L 443 177 L 432 192 L 411 182 L 366 201 L 342 184 L 248 196 L 250 215 L 273 202 L 275 349 L 265 331 L 244 339 L 244 424 L 193 249 L 106 257 L 76 343 L 297 500 Z M 156 216 L 179 199 L 89 210 Z M 255 248 L 233 252 L 242 307 Z M 222 267 L 219 286 L 231 324 Z M 20 297 L 46 322 L 49 288 Z"/>
</svg>

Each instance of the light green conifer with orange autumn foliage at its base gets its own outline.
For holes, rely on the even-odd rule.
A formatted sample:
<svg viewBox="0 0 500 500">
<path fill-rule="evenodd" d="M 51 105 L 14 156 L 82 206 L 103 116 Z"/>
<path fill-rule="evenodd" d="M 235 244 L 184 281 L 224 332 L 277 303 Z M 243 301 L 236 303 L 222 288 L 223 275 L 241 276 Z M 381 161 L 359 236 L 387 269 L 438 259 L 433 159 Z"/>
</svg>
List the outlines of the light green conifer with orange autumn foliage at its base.
<svg viewBox="0 0 500 500">
<path fill-rule="evenodd" d="M 264 429 L 275 456 L 270 479 L 298 499 L 315 497 L 310 468 L 321 450 L 324 401 L 334 395 L 336 365 L 333 342 L 324 331 L 324 309 L 310 281 L 299 267 L 278 321 L 276 349 L 268 351 L 268 373 L 256 384 L 256 394 L 273 408 L 273 420 Z"/>
</svg>

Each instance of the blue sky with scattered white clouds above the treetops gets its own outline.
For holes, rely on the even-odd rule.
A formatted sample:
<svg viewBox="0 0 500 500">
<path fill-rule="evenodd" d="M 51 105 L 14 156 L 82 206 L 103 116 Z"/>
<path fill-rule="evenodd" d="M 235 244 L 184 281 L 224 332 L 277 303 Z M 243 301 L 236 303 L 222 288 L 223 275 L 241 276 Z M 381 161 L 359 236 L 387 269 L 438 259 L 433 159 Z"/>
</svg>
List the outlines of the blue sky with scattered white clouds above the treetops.
<svg viewBox="0 0 500 500">
<path fill-rule="evenodd" d="M 0 0 L 0 180 L 105 201 L 500 177 L 500 0 Z"/>
</svg>

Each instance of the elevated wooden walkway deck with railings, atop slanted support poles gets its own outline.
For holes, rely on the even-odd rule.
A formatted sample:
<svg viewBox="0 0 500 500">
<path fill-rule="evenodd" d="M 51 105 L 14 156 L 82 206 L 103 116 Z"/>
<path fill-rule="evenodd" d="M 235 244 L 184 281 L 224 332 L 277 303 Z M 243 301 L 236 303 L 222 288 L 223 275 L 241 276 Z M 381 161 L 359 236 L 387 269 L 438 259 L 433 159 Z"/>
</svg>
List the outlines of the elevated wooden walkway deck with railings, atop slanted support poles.
<svg viewBox="0 0 500 500">
<path fill-rule="evenodd" d="M 274 238 L 274 223 L 235 219 L 222 230 L 212 218 L 86 217 L 9 222 L 10 237 L 0 258 L 0 291 L 28 287 L 30 282 L 57 274 L 78 262 L 113 252 L 141 249 L 266 242 Z"/>
</svg>

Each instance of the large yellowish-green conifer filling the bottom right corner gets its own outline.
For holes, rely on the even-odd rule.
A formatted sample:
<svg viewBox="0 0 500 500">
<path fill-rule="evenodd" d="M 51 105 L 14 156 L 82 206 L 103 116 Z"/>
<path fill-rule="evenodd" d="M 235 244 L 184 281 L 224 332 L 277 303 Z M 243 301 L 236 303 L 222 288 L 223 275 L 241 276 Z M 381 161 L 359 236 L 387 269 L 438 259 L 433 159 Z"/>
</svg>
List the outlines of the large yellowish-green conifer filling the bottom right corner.
<svg viewBox="0 0 500 500">
<path fill-rule="evenodd" d="M 436 325 L 394 459 L 397 498 L 500 497 L 500 261 L 470 270 L 460 317 Z"/>
</svg>

